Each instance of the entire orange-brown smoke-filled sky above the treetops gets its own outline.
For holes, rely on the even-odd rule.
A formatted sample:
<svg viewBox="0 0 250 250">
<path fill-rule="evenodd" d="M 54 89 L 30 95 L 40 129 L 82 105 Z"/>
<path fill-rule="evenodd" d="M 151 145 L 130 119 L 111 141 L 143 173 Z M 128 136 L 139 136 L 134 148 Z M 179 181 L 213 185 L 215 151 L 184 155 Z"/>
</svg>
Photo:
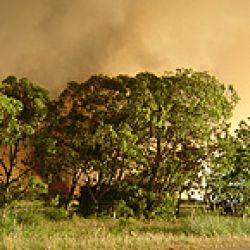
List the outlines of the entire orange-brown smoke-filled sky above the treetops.
<svg viewBox="0 0 250 250">
<path fill-rule="evenodd" d="M 70 80 L 191 67 L 241 96 L 250 114 L 249 0 L 0 0 L 0 77 L 53 94 Z"/>
</svg>

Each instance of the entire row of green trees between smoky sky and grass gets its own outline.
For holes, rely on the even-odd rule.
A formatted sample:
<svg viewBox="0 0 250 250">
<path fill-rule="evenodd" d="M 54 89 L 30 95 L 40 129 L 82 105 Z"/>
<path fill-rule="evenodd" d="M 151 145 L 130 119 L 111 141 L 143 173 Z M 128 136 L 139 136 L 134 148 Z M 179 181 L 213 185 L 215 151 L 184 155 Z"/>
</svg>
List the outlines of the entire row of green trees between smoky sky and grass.
<svg viewBox="0 0 250 250">
<path fill-rule="evenodd" d="M 238 100 L 233 86 L 192 69 L 93 75 L 69 82 L 54 100 L 9 76 L 0 83 L 2 203 L 24 197 L 28 186 L 37 192 L 35 170 L 45 184 L 70 179 L 70 188 L 56 193 L 65 208 L 81 186 L 83 215 L 169 216 L 208 166 L 204 202 L 244 210 L 249 124 L 229 132 Z"/>
</svg>

